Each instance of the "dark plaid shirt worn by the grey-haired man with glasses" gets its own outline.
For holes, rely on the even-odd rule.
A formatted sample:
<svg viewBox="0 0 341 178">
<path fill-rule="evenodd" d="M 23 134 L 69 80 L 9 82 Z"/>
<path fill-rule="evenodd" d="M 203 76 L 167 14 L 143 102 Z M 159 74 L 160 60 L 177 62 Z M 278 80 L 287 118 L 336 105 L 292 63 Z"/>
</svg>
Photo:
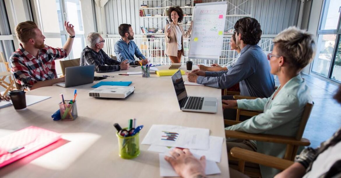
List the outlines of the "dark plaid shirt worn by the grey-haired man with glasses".
<svg viewBox="0 0 341 178">
<path fill-rule="evenodd" d="M 102 49 L 97 53 L 88 46 L 80 55 L 80 65 L 95 65 L 95 70 L 98 73 L 119 71 L 120 63 L 110 58 Z"/>
</svg>

